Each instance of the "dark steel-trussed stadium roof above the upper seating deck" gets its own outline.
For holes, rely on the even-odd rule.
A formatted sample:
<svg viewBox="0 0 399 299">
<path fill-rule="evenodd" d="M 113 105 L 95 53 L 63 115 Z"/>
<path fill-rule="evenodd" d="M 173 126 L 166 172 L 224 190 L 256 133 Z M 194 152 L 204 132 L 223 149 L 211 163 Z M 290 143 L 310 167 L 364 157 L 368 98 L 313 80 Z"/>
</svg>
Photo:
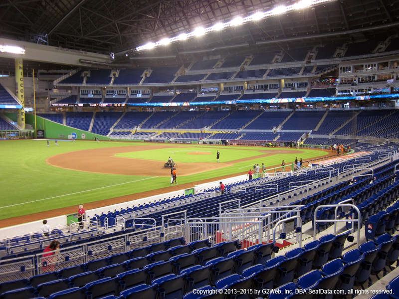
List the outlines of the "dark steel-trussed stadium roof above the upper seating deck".
<svg viewBox="0 0 399 299">
<path fill-rule="evenodd" d="M 198 26 L 295 2 L 298 0 L 6 0 L 0 4 L 0 36 L 99 53 L 125 53 Z M 256 53 L 264 48 L 287 49 L 334 40 L 383 40 L 397 34 L 398 28 L 399 0 L 332 0 L 189 42 L 130 51 L 129 55 L 177 55 L 183 61 L 194 55 Z"/>
</svg>

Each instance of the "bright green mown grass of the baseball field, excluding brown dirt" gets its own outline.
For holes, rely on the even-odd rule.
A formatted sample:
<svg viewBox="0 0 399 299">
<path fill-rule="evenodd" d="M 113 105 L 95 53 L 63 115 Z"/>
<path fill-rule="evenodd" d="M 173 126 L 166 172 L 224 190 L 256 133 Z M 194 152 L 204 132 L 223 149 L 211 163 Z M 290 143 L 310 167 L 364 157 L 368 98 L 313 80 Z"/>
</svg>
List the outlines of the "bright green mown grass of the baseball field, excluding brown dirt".
<svg viewBox="0 0 399 299">
<path fill-rule="evenodd" d="M 46 158 L 55 154 L 69 151 L 98 149 L 109 147 L 147 146 L 147 143 L 126 142 L 67 142 L 60 141 L 59 147 L 50 142 L 46 147 L 46 141 L 1 141 L 0 142 L 0 174 L 1 201 L 0 219 L 21 216 L 46 210 L 52 210 L 71 205 L 84 204 L 117 196 L 123 196 L 143 191 L 170 186 L 169 177 L 134 176 L 89 173 L 54 167 L 46 163 Z M 151 144 L 154 146 L 154 144 Z M 162 147 L 162 145 L 160 145 Z M 175 149 L 175 148 L 174 148 Z M 177 150 L 210 150 L 209 155 L 190 155 L 188 151 Z M 175 154 L 169 154 L 170 149 L 155 150 L 157 159 L 166 160 L 166 156 L 174 159 L 188 159 L 187 161 L 215 162 L 216 149 L 220 151 L 221 162 L 253 157 L 259 154 L 259 148 L 228 147 L 216 148 L 214 146 L 184 146 L 176 147 Z M 249 149 L 249 150 L 245 150 Z M 173 150 L 173 149 L 172 149 Z M 276 150 L 276 149 L 262 149 Z M 300 157 L 307 159 L 323 154 L 312 149 L 300 149 L 303 153 Z M 135 151 L 124 153 L 124 156 L 154 159 L 153 150 Z M 327 154 L 327 153 L 325 153 Z M 206 160 L 202 160 L 206 159 Z M 192 159 L 192 160 L 189 160 Z M 201 159 L 201 160 L 198 160 Z M 262 159 L 249 159 L 234 163 L 232 166 L 215 170 L 206 170 L 202 173 L 179 176 L 179 184 L 196 182 L 206 178 L 235 174 L 247 171 L 253 163 L 265 163 L 266 166 L 276 165 L 284 159 L 286 164 L 295 159 L 295 154 L 276 154 Z M 97 161 L 101 162 L 101 161 Z M 206 167 L 204 167 L 206 169 Z M 193 184 L 194 185 L 194 184 Z"/>
</svg>

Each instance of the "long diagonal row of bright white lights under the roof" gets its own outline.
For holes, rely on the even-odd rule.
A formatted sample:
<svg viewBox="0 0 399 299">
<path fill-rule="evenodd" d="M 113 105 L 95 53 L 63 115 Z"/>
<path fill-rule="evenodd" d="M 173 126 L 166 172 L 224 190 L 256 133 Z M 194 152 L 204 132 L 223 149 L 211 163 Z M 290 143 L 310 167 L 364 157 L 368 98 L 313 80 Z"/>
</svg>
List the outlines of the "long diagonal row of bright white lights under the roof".
<svg viewBox="0 0 399 299">
<path fill-rule="evenodd" d="M 225 28 L 239 26 L 241 24 L 248 23 L 251 21 L 258 21 L 260 19 L 263 19 L 263 18 L 266 18 L 269 16 L 283 14 L 283 13 L 290 12 L 293 10 L 304 9 L 304 8 L 311 7 L 311 6 L 314 6 L 317 4 L 331 2 L 331 1 L 334 1 L 334 0 L 301 0 L 297 3 L 287 5 L 287 6 L 280 5 L 280 6 L 274 7 L 273 9 L 266 11 L 266 12 L 257 11 L 254 14 L 251 14 L 246 17 L 236 16 L 232 20 L 225 22 L 225 23 L 217 22 L 216 24 L 206 27 L 206 28 L 197 27 L 192 32 L 181 33 L 175 37 L 170 37 L 170 38 L 165 37 L 156 42 L 148 42 L 144 45 L 138 46 L 135 49 L 131 49 L 129 51 L 151 50 L 151 49 L 154 49 L 155 47 L 165 46 L 172 42 L 182 41 L 182 40 L 186 40 L 186 39 L 192 38 L 192 37 L 200 37 L 206 33 L 212 32 L 212 31 L 220 31 Z"/>
</svg>

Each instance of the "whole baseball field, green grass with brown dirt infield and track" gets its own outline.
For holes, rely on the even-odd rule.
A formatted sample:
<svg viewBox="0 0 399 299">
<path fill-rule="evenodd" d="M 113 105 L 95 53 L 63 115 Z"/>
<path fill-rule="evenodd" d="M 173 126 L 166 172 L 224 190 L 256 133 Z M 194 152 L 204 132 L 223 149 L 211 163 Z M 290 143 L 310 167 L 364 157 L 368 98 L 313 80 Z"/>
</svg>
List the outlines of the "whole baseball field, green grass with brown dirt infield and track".
<svg viewBox="0 0 399 299">
<path fill-rule="evenodd" d="M 331 154 L 317 149 L 62 140 L 58 146 L 50 140 L 49 147 L 45 140 L 1 141 L 0 148 L 0 227 L 75 212 L 78 204 L 100 207 L 247 173 L 254 163 L 270 168 L 282 159 L 290 164 L 295 157 Z M 169 156 L 177 163 L 176 186 L 170 185 L 170 169 L 163 168 Z"/>
</svg>

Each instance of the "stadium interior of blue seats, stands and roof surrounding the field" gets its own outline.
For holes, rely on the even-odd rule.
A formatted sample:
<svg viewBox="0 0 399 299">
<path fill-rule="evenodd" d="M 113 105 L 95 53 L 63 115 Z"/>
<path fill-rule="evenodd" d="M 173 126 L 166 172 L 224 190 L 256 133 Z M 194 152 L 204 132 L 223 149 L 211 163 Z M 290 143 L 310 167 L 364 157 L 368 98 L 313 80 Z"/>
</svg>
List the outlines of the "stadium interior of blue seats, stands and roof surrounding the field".
<svg viewBox="0 0 399 299">
<path fill-rule="evenodd" d="M 0 7 L 0 146 L 330 150 L 1 236 L 0 299 L 399 298 L 399 0 Z"/>
</svg>

